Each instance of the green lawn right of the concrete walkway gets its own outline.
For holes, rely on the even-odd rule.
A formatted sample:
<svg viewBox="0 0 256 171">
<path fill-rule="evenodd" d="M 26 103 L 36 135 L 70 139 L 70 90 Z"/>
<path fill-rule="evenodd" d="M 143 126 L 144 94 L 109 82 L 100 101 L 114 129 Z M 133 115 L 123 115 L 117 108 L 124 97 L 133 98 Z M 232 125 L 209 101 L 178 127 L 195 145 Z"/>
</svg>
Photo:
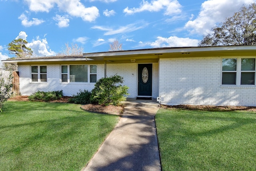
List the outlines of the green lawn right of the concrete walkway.
<svg viewBox="0 0 256 171">
<path fill-rule="evenodd" d="M 256 113 L 160 109 L 163 171 L 256 170 Z"/>
</svg>

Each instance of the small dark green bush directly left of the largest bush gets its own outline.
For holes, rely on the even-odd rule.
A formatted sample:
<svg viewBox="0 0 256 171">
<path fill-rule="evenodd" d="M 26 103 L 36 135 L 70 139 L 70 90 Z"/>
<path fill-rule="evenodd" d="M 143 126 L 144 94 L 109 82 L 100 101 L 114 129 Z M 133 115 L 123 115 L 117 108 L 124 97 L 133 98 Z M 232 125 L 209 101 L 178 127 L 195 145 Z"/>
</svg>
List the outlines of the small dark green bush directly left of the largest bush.
<svg viewBox="0 0 256 171">
<path fill-rule="evenodd" d="M 76 95 L 73 95 L 72 98 L 68 100 L 70 103 L 76 103 L 76 104 L 88 104 L 90 103 L 90 96 L 91 96 L 91 91 L 88 90 L 80 90 Z"/>
</svg>

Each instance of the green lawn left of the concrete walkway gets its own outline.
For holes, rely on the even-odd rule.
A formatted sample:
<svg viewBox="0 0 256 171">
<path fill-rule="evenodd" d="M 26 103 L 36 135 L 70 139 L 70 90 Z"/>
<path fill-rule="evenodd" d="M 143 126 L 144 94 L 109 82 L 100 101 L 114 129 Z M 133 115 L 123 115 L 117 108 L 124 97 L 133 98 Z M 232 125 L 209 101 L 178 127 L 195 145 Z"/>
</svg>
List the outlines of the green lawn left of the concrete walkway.
<svg viewBox="0 0 256 171">
<path fill-rule="evenodd" d="M 0 171 L 80 171 L 117 122 L 75 104 L 8 101 L 0 113 Z"/>
</svg>

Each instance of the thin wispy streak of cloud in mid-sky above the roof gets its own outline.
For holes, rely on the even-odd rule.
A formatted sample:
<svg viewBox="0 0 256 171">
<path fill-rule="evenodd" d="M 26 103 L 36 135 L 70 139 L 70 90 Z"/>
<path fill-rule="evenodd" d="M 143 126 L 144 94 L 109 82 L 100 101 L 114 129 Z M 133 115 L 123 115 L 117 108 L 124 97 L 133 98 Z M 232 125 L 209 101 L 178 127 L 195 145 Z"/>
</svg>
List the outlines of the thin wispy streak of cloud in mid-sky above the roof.
<svg viewBox="0 0 256 171">
<path fill-rule="evenodd" d="M 128 24 L 126 26 L 120 26 L 117 29 L 108 28 L 108 27 L 104 27 L 104 26 L 93 26 L 92 28 L 106 31 L 104 33 L 104 35 L 106 36 L 106 35 L 114 35 L 114 34 L 120 34 L 120 33 L 123 34 L 123 33 L 127 33 L 127 32 L 133 32 L 135 30 L 145 28 L 146 26 L 148 26 L 148 23 L 140 22 L 140 23 Z"/>
</svg>

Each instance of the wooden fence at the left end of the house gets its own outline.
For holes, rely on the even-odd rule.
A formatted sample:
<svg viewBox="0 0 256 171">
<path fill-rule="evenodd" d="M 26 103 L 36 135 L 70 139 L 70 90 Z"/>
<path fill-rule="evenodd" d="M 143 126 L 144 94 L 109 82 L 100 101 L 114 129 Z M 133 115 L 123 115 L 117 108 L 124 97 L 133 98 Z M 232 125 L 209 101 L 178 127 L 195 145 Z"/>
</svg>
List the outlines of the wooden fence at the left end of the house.
<svg viewBox="0 0 256 171">
<path fill-rule="evenodd" d="M 20 95 L 20 76 L 19 72 L 16 71 L 1 71 L 0 74 L 2 74 L 1 78 L 4 78 L 4 80 L 8 80 L 10 73 L 12 73 L 12 92 L 14 95 Z"/>
</svg>

